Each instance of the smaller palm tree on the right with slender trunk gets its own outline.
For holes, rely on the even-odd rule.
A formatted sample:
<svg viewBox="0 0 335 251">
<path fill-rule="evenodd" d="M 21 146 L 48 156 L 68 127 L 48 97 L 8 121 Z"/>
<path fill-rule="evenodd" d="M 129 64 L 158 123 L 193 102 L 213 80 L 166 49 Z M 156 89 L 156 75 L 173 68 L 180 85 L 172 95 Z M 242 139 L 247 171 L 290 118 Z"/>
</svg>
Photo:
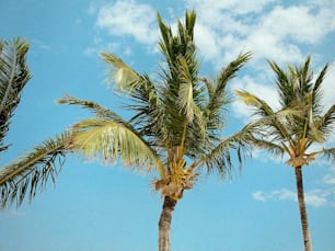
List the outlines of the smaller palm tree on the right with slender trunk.
<svg viewBox="0 0 335 251">
<path fill-rule="evenodd" d="M 312 250 L 308 215 L 305 209 L 302 168 L 315 160 L 325 157 L 335 161 L 335 148 L 325 148 L 325 142 L 334 129 L 335 104 L 323 113 L 322 82 L 328 65 L 313 79 L 310 69 L 311 58 L 308 57 L 301 67 L 288 67 L 288 72 L 269 61 L 276 73 L 276 85 L 279 93 L 279 110 L 272 109 L 265 101 L 246 91 L 238 91 L 238 95 L 251 105 L 258 121 L 258 132 L 254 144 L 261 149 L 280 156 L 288 156 L 287 164 L 294 169 L 297 196 L 300 210 L 303 241 L 305 251 Z M 323 145 L 323 148 L 317 147 Z M 313 147 L 313 148 L 312 148 Z"/>
</svg>

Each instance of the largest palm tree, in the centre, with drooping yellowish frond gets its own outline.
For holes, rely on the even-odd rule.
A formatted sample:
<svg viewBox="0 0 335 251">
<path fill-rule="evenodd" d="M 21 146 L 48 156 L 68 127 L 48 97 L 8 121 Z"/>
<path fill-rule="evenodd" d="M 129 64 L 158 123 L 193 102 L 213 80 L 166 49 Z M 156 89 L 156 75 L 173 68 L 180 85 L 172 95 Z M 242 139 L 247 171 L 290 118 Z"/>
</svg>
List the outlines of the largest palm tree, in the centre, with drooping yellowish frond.
<svg viewBox="0 0 335 251">
<path fill-rule="evenodd" d="M 37 158 L 23 157 L 16 164 L 7 166 L 2 172 L 5 175 L 0 173 L 0 187 L 5 187 L 7 194 L 15 197 L 16 183 L 12 174 L 19 173 L 18 179 L 24 176 L 26 181 L 37 182 L 41 176 L 34 175 L 36 159 L 44 157 L 41 167 L 49 163 L 47 166 L 53 170 L 55 158 L 69 151 L 107 163 L 118 159 L 123 166 L 135 170 L 155 172 L 152 183 L 163 198 L 159 250 L 169 251 L 172 213 L 184 191 L 195 185 L 204 169 L 217 171 L 222 176 L 230 174 L 233 169 L 231 151 L 236 151 L 241 163 L 242 150 L 247 150 L 246 141 L 252 130 L 246 126 L 230 137 L 222 137 L 223 110 L 230 102 L 227 83 L 251 54 L 239 55 L 215 79 L 200 77 L 194 43 L 195 22 L 196 13 L 186 12 L 185 23 L 178 21 L 177 35 L 173 35 L 158 14 L 159 45 L 164 61 L 154 80 L 147 73 L 136 72 L 116 55 L 103 53 L 102 58 L 113 69 L 112 81 L 116 91 L 128 98 L 129 103 L 125 106 L 129 118 L 124 119 L 96 102 L 63 96 L 59 103 L 80 105 L 94 116 L 78 122 L 57 140 L 49 139 L 45 146 L 36 148 L 38 155 L 35 151 L 26 155 L 31 159 L 37 155 Z M 54 179 L 55 172 L 50 173 Z M 31 189 L 31 194 L 34 195 L 34 191 Z"/>
</svg>

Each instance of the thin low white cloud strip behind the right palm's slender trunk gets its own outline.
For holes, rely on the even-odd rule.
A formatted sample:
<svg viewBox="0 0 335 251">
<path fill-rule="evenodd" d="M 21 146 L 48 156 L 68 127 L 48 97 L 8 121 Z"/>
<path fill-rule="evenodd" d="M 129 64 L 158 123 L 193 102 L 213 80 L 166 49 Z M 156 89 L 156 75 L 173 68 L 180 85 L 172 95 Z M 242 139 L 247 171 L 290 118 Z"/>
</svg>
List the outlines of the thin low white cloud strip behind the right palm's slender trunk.
<svg viewBox="0 0 335 251">
<path fill-rule="evenodd" d="M 312 190 L 304 193 L 304 201 L 307 205 L 321 207 L 326 204 L 332 204 L 333 202 L 328 202 L 328 197 L 335 194 L 334 189 L 328 190 Z M 256 201 L 261 201 L 263 203 L 267 201 L 294 201 L 297 202 L 297 193 L 289 191 L 287 189 L 275 190 L 272 192 L 263 192 L 256 191 L 252 194 L 252 196 Z"/>
</svg>

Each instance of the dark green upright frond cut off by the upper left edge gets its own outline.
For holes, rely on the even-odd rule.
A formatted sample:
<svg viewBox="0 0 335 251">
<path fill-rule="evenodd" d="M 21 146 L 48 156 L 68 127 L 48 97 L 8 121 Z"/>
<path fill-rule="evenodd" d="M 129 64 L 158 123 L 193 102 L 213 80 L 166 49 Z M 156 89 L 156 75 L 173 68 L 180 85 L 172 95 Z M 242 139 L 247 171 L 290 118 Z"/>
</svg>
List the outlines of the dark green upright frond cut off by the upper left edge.
<svg viewBox="0 0 335 251">
<path fill-rule="evenodd" d="M 20 102 L 22 89 L 31 79 L 26 65 L 30 44 L 20 37 L 0 44 L 0 150 L 4 150 L 3 138 L 11 117 Z"/>
</svg>

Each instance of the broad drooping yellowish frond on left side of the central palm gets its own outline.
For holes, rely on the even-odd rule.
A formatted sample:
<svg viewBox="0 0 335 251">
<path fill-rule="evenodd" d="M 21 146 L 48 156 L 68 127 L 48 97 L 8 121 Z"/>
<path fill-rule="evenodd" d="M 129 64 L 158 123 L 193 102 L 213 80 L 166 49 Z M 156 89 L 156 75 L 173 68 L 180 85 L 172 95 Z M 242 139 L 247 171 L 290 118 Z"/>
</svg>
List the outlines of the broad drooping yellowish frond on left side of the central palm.
<svg viewBox="0 0 335 251">
<path fill-rule="evenodd" d="M 155 167 L 165 176 L 155 151 L 123 124 L 104 118 L 88 118 L 77 123 L 72 130 L 69 147 L 85 159 L 103 159 L 106 163 L 119 159 L 123 164 L 147 171 Z"/>
</svg>

